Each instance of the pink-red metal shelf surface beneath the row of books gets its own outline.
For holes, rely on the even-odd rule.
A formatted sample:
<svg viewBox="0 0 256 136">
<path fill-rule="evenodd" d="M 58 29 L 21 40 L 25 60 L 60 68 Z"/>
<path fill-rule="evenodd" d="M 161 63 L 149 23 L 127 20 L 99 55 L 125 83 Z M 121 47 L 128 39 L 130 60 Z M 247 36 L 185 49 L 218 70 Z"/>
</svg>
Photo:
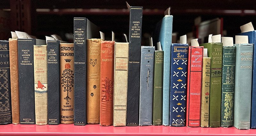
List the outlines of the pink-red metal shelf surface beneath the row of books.
<svg viewBox="0 0 256 136">
<path fill-rule="evenodd" d="M 54 136 L 152 136 L 152 135 L 170 135 L 170 136 L 242 136 L 256 135 L 256 130 L 238 130 L 230 128 L 187 128 L 170 126 L 129 126 L 129 127 L 103 127 L 99 124 L 74 126 L 73 124 L 60 125 L 0 125 L 0 136 L 28 136 L 28 135 L 46 135 Z"/>
</svg>

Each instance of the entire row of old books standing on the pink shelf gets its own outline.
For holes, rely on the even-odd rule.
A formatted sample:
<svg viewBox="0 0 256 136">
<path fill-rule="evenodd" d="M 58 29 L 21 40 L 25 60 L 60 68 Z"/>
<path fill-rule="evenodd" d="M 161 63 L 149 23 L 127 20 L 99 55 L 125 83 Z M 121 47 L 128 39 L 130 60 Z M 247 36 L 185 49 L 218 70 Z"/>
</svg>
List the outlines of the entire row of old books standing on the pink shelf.
<svg viewBox="0 0 256 136">
<path fill-rule="evenodd" d="M 219 35 L 200 46 L 184 37 L 172 44 L 168 11 L 156 50 L 152 40 L 140 46 L 142 7 L 129 8 L 129 43 L 97 38 L 99 28 L 86 18 L 74 18 L 74 44 L 18 31 L 1 41 L 0 123 L 255 128 L 252 25 L 242 27 L 248 37 L 236 38 L 247 42 L 235 46 Z"/>
</svg>

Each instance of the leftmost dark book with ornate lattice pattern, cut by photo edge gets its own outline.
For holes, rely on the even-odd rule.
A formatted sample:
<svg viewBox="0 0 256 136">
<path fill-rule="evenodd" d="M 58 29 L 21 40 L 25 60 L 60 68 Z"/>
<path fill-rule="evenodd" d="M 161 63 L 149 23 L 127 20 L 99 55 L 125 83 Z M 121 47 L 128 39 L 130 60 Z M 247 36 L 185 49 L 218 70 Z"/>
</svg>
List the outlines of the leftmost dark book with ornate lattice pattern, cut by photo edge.
<svg viewBox="0 0 256 136">
<path fill-rule="evenodd" d="M 0 41 L 0 124 L 12 123 L 9 41 Z"/>
</svg>

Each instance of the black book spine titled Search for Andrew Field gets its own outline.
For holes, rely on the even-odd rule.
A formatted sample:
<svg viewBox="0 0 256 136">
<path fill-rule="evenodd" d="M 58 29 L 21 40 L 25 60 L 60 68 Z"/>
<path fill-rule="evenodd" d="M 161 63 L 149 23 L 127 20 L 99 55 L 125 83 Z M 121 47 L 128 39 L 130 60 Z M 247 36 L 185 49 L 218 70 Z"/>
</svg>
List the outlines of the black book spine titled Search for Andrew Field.
<svg viewBox="0 0 256 136">
<path fill-rule="evenodd" d="M 35 39 L 18 39 L 20 124 L 36 124 L 33 45 Z"/>
</svg>

